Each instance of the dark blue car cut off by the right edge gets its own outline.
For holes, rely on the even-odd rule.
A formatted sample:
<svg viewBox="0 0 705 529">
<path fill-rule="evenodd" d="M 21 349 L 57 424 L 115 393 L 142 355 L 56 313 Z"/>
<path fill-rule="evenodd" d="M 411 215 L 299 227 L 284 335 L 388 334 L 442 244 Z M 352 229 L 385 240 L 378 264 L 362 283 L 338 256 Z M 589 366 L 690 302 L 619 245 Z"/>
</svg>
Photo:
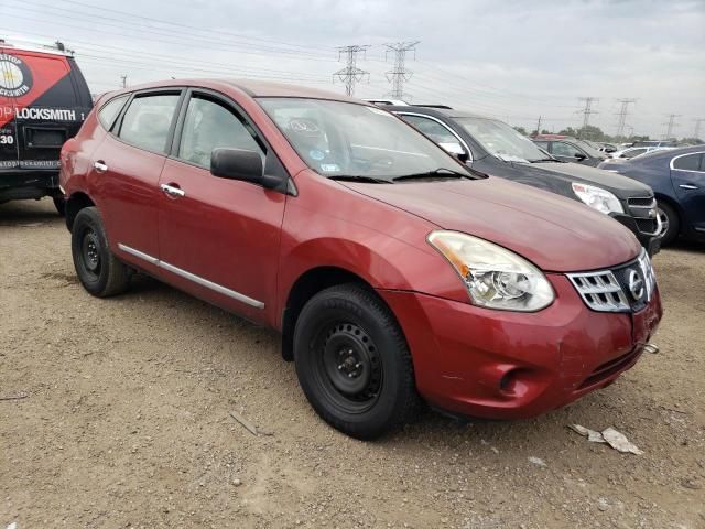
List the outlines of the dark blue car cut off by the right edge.
<svg viewBox="0 0 705 529">
<path fill-rule="evenodd" d="M 664 149 L 625 162 L 608 161 L 606 171 L 623 174 L 653 188 L 659 203 L 662 245 L 680 235 L 705 240 L 705 145 Z"/>
</svg>

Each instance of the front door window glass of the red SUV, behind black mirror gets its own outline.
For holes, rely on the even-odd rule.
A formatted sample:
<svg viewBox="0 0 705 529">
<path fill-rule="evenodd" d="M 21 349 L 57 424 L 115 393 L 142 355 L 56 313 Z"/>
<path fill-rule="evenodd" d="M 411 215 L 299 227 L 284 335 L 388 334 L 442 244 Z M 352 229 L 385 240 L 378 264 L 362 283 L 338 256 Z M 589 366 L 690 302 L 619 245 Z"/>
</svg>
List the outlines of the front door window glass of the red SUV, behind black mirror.
<svg viewBox="0 0 705 529">
<path fill-rule="evenodd" d="M 254 132 L 234 110 L 202 96 L 188 101 L 178 158 L 204 169 L 210 169 L 210 153 L 216 148 L 246 149 L 264 153 Z"/>
</svg>

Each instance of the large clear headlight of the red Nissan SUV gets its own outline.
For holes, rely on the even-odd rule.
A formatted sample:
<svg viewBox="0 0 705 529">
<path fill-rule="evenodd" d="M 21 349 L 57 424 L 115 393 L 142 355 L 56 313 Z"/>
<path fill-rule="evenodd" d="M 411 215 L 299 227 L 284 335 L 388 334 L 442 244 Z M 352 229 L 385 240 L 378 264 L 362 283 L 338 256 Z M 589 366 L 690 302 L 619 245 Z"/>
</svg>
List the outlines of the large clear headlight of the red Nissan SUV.
<svg viewBox="0 0 705 529">
<path fill-rule="evenodd" d="M 555 299 L 541 270 L 501 246 L 457 231 L 432 231 L 429 242 L 460 276 L 476 305 L 534 312 Z"/>
</svg>

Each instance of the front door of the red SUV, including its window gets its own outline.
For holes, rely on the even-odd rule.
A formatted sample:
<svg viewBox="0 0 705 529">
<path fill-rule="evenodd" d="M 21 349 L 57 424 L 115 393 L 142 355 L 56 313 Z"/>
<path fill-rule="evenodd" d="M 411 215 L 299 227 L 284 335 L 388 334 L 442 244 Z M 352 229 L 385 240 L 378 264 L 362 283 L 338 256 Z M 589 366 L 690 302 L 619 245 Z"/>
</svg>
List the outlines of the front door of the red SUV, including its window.
<svg viewBox="0 0 705 529">
<path fill-rule="evenodd" d="M 228 98 L 193 90 L 160 186 L 160 267 L 177 287 L 250 320 L 267 322 L 276 298 L 285 195 L 216 177 L 216 148 L 260 153 L 265 171 L 284 171 L 249 118 Z M 269 314 L 269 316 L 273 316 Z"/>
</svg>

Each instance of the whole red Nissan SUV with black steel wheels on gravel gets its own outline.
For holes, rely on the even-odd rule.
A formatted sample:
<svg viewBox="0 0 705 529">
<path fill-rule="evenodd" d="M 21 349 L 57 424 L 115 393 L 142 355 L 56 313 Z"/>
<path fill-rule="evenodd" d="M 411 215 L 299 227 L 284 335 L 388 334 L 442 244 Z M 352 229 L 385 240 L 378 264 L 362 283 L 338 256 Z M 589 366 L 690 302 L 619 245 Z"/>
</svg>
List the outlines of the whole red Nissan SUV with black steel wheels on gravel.
<svg viewBox="0 0 705 529">
<path fill-rule="evenodd" d="M 371 439 L 446 411 L 525 418 L 630 368 L 649 257 L 581 204 L 474 173 L 375 106 L 264 83 L 104 96 L 62 151 L 76 271 L 139 270 L 282 332 L 312 406 Z"/>
</svg>

